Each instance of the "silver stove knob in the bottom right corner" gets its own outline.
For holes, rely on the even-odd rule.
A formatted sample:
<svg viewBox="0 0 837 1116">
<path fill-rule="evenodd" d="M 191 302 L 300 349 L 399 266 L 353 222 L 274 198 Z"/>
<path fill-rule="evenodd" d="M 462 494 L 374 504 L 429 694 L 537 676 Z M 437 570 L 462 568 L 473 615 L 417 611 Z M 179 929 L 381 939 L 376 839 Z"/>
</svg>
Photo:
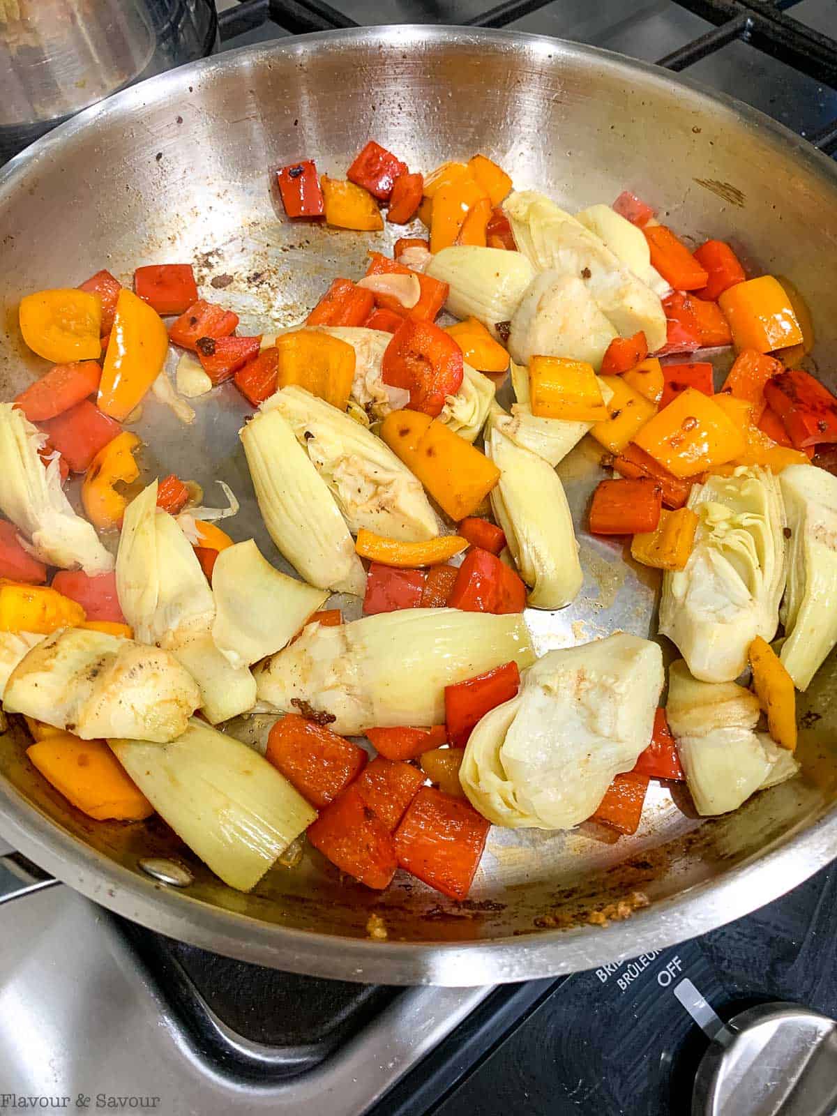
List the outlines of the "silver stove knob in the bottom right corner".
<svg viewBox="0 0 837 1116">
<path fill-rule="evenodd" d="M 692 1116 L 835 1116 L 837 1022 L 796 1003 L 735 1016 L 698 1069 Z"/>
</svg>

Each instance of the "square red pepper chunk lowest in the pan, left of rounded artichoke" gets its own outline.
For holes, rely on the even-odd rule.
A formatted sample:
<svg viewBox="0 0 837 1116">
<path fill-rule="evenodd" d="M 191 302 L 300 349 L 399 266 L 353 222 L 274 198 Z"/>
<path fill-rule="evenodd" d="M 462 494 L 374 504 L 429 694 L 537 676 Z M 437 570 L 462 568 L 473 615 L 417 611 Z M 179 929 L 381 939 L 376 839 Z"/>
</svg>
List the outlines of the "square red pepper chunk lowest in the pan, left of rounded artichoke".
<svg viewBox="0 0 837 1116">
<path fill-rule="evenodd" d="M 398 864 L 449 898 L 464 899 L 490 828 L 470 802 L 422 787 L 395 830 Z"/>
</svg>

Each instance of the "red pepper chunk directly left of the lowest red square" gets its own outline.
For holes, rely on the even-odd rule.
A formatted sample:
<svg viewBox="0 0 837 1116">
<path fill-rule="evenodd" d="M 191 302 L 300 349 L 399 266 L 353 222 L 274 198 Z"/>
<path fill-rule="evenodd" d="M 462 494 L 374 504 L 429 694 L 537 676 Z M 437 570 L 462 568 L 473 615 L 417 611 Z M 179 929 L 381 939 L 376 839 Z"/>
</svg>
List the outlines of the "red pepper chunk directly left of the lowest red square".
<svg viewBox="0 0 837 1116">
<path fill-rule="evenodd" d="M 389 886 L 398 867 L 393 835 L 357 787 L 347 787 L 323 810 L 308 827 L 308 840 L 340 872 L 376 891 Z"/>
</svg>

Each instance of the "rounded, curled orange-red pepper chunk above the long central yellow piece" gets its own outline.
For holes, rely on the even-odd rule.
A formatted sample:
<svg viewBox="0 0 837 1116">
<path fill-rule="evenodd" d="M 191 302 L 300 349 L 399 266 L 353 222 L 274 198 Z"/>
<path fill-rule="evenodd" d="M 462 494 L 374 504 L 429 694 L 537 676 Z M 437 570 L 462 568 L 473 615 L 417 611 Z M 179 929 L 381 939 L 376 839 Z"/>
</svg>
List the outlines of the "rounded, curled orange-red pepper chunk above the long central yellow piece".
<svg viewBox="0 0 837 1116">
<path fill-rule="evenodd" d="M 381 378 L 410 392 L 411 411 L 435 419 L 445 397 L 455 395 L 464 376 L 462 349 L 432 321 L 405 318 L 384 349 Z"/>
</svg>

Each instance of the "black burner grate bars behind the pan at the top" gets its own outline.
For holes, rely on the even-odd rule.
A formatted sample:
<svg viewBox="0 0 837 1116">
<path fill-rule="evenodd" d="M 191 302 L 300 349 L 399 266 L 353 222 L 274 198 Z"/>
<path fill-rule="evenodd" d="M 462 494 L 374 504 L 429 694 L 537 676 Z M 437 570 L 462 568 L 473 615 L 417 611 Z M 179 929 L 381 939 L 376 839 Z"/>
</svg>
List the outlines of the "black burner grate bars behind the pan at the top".
<svg viewBox="0 0 837 1116">
<path fill-rule="evenodd" d="M 807 27 L 788 9 L 800 0 L 672 0 L 714 25 L 714 29 L 660 58 L 657 64 L 680 71 L 729 46 L 745 42 L 816 81 L 837 89 L 837 39 Z M 503 0 L 482 15 L 464 20 L 469 27 L 507 27 L 546 8 L 549 0 Z M 272 21 L 291 35 L 327 31 L 357 23 L 321 0 L 242 0 L 220 16 L 221 37 L 235 36 Z M 837 152 L 837 118 L 820 127 L 809 141 L 829 154 Z"/>
</svg>

